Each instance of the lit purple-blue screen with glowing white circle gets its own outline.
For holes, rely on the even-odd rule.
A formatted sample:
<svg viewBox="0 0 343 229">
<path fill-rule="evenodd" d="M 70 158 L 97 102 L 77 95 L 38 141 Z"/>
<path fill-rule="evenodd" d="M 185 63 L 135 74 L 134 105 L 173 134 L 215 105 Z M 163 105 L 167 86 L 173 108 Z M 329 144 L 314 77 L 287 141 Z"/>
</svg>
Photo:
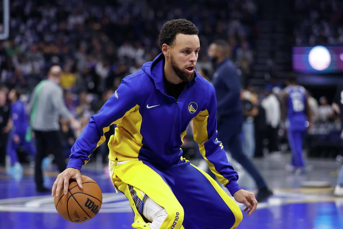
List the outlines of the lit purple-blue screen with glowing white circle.
<svg viewBox="0 0 343 229">
<path fill-rule="evenodd" d="M 343 47 L 293 47 L 293 70 L 307 73 L 343 72 Z"/>
</svg>

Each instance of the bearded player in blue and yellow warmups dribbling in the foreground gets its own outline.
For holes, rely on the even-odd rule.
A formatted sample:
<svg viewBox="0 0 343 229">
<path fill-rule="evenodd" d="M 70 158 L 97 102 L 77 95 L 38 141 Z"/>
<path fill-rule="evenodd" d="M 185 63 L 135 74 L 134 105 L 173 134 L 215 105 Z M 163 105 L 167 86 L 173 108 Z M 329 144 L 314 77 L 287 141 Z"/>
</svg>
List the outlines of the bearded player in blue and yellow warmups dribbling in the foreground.
<svg viewBox="0 0 343 229">
<path fill-rule="evenodd" d="M 237 184 L 238 174 L 217 139 L 216 95 L 197 74 L 197 27 L 185 19 L 166 22 L 159 35 L 162 53 L 125 77 L 114 95 L 91 117 L 71 150 L 68 168 L 52 186 L 59 195 L 69 179 L 82 188 L 80 169 L 117 124 L 108 146 L 110 177 L 129 199 L 133 228 L 236 228 L 239 207 L 206 173 L 182 157 L 183 138 L 193 121 L 194 140 L 211 171 L 248 215 L 257 207 L 253 193 Z"/>
</svg>

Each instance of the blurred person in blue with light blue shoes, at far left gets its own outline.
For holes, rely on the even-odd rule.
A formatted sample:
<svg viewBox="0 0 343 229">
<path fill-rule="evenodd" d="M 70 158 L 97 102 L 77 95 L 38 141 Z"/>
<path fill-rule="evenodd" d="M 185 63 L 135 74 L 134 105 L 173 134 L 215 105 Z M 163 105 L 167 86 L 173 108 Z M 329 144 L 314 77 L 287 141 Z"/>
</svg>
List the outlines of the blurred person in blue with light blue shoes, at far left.
<svg viewBox="0 0 343 229">
<path fill-rule="evenodd" d="M 24 104 L 19 100 L 20 94 L 19 89 L 12 89 L 8 95 L 11 101 L 10 118 L 13 125 L 7 143 L 7 154 L 11 158 L 11 168 L 8 173 L 17 179 L 21 178 L 23 172 L 23 168 L 18 160 L 17 148 L 23 146 L 29 155 L 33 156 L 36 154 L 36 148 L 33 145 L 31 136 L 27 136 L 29 126 Z"/>
</svg>

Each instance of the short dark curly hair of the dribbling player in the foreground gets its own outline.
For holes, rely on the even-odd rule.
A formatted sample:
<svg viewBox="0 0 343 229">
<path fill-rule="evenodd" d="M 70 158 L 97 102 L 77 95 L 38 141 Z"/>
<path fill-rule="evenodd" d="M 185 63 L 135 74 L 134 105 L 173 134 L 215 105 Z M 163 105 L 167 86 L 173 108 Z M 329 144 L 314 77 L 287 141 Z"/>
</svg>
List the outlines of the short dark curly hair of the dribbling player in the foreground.
<svg viewBox="0 0 343 229">
<path fill-rule="evenodd" d="M 174 19 L 167 21 L 161 28 L 158 42 L 162 50 L 162 45 L 167 44 L 172 46 L 177 34 L 198 35 L 199 30 L 191 21 L 186 19 Z"/>
</svg>

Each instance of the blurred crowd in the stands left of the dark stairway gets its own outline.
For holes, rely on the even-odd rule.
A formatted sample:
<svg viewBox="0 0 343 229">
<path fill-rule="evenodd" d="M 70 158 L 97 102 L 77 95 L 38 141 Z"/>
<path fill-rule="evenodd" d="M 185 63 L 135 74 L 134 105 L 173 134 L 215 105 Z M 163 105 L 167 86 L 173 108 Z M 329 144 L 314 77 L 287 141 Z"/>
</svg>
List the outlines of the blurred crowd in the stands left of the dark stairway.
<svg viewBox="0 0 343 229">
<path fill-rule="evenodd" d="M 219 38 L 230 44 L 231 58 L 242 74 L 249 76 L 251 41 L 258 34 L 257 10 L 253 0 L 230 4 L 223 0 L 200 0 L 197 4 L 189 0 L 14 0 L 10 38 L 0 41 L 0 85 L 5 94 L 20 88 L 20 99 L 27 103 L 49 67 L 61 66 L 66 105 L 81 123 L 80 129 L 71 130 L 61 119 L 69 154 L 91 115 L 114 93 L 122 78 L 160 53 L 158 34 L 168 20 L 187 18 L 199 28 L 203 51 L 197 69 L 203 77 L 212 77 L 206 50 Z"/>
</svg>

